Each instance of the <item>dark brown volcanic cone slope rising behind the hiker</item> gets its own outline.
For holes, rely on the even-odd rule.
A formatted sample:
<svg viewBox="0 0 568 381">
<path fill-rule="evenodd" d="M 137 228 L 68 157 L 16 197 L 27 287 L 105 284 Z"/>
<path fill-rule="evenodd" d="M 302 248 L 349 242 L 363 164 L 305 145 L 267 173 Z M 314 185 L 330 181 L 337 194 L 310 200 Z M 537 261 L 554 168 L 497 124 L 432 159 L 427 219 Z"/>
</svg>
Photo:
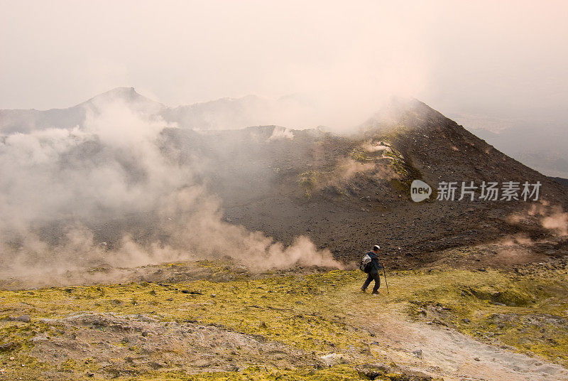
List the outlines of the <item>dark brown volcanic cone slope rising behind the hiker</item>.
<svg viewBox="0 0 568 381">
<path fill-rule="evenodd" d="M 481 181 L 540 181 L 541 200 L 566 209 L 559 184 L 421 102 L 383 110 L 349 136 L 289 130 L 293 138 L 269 140 L 280 130 L 168 130 L 167 144 L 186 150 L 187 156 L 197 150 L 209 159 L 210 189 L 222 198 L 229 222 L 285 243 L 308 235 L 346 261 L 358 258 L 371 242 L 385 247 L 393 263 L 419 264 L 439 259 L 431 252 L 496 242 L 507 235 L 554 240 L 555 232 L 542 228 L 538 216 L 526 215 L 523 223 L 510 219 L 514 213 L 526 214 L 530 202 L 417 204 L 408 190 L 414 178 L 432 186 L 438 181 L 474 181 L 478 186 Z M 558 255 L 567 254 L 565 243 L 552 245 Z M 544 246 L 534 249 L 550 249 Z M 495 258 L 481 260 L 486 264 Z"/>
</svg>

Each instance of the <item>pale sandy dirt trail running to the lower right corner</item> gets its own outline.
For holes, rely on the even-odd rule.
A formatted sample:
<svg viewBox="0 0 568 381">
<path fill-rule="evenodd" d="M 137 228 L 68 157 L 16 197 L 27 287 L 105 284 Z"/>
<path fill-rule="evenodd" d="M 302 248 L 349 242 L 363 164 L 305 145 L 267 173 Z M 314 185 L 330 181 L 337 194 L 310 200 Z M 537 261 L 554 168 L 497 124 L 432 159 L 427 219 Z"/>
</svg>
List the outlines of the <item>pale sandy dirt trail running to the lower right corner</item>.
<svg viewBox="0 0 568 381">
<path fill-rule="evenodd" d="M 378 313 L 373 354 L 444 380 L 568 380 L 568 370 L 541 358 L 481 343 L 443 326 L 408 321 L 401 313 Z"/>
</svg>

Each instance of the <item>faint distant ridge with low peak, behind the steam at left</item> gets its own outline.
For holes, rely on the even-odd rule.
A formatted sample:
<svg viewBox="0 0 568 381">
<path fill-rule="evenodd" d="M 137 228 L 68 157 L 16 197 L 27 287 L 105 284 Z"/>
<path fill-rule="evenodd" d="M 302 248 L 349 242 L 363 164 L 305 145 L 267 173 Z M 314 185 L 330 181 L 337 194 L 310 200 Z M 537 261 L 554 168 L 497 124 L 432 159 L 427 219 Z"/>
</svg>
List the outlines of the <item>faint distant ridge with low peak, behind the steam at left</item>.
<svg viewBox="0 0 568 381">
<path fill-rule="evenodd" d="M 291 127 L 305 119 L 302 128 L 311 127 L 312 105 L 300 96 L 268 100 L 256 95 L 168 107 L 151 100 L 134 87 L 116 87 L 65 109 L 1 109 L 0 134 L 28 133 L 48 128 L 82 127 L 89 112 L 97 113 L 104 104 L 122 102 L 131 110 L 161 117 L 165 122 L 188 129 L 239 129 L 249 126 L 282 124 Z M 278 120 L 274 120 L 278 115 Z M 294 127 L 298 127 L 294 125 Z"/>
</svg>

